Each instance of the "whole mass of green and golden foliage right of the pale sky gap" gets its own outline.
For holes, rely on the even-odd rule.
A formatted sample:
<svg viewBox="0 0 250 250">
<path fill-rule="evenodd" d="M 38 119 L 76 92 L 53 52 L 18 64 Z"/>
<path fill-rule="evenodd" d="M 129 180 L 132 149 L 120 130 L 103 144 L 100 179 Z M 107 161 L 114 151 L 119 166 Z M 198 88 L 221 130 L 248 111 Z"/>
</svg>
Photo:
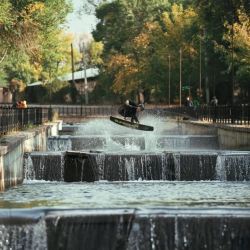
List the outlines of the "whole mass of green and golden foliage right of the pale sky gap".
<svg viewBox="0 0 250 250">
<path fill-rule="evenodd" d="M 228 103 L 234 51 L 238 100 L 249 99 L 249 10 L 248 0 L 103 1 L 93 31 L 104 41 L 98 85 L 121 96 L 140 89 L 145 100 L 167 101 L 171 55 L 171 102 L 178 101 L 181 50 L 182 86 L 188 86 L 183 100 L 200 100 L 201 73 L 204 99 L 211 93 Z"/>
</svg>

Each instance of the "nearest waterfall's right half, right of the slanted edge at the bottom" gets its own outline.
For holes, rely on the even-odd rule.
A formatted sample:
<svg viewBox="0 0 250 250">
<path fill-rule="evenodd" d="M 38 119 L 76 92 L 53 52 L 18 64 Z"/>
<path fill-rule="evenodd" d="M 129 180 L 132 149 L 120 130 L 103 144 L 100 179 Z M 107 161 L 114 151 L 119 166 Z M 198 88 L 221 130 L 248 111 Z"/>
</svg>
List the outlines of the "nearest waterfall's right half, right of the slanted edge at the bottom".
<svg viewBox="0 0 250 250">
<path fill-rule="evenodd" d="M 249 220 L 249 215 L 141 214 L 127 249 L 248 249 Z"/>
</svg>

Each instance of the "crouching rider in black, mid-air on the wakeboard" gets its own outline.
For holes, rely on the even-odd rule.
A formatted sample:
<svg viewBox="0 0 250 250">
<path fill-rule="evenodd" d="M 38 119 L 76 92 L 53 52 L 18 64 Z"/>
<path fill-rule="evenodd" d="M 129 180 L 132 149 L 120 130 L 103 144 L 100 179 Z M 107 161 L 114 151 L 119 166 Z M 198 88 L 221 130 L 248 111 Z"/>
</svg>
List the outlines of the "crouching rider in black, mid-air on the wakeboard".
<svg viewBox="0 0 250 250">
<path fill-rule="evenodd" d="M 140 123 L 136 113 L 144 110 L 143 104 L 135 104 L 134 102 L 127 100 L 119 109 L 118 113 L 124 117 L 124 120 L 127 121 L 127 117 L 131 117 L 131 122 Z"/>
</svg>

